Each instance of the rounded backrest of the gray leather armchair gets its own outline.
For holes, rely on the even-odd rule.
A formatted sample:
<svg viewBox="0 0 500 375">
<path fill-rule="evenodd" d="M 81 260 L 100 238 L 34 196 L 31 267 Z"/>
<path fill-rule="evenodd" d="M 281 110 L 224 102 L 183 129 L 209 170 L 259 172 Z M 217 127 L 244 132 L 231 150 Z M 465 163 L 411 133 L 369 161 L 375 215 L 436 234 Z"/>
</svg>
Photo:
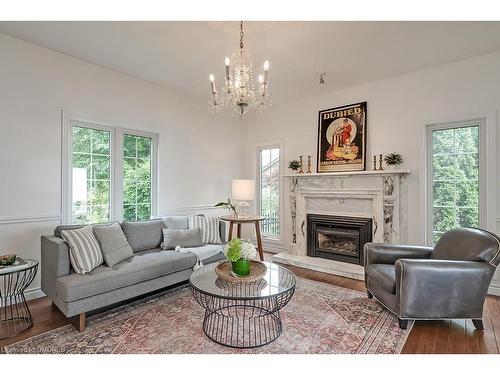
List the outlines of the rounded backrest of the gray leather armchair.
<svg viewBox="0 0 500 375">
<path fill-rule="evenodd" d="M 431 258 L 490 262 L 498 265 L 500 243 L 493 234 L 472 228 L 445 232 L 434 247 Z"/>
</svg>

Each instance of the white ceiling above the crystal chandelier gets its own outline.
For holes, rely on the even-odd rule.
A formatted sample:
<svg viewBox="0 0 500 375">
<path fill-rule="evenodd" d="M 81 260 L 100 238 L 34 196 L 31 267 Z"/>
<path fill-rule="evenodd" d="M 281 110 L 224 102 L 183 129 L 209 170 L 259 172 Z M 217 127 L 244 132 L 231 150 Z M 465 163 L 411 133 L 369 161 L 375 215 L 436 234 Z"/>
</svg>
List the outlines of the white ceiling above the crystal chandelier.
<svg viewBox="0 0 500 375">
<path fill-rule="evenodd" d="M 500 22 L 248 22 L 246 45 L 271 63 L 274 102 L 500 50 Z M 207 100 L 222 85 L 239 22 L 0 22 L 0 32 Z M 326 87 L 318 73 L 327 72 Z"/>
</svg>

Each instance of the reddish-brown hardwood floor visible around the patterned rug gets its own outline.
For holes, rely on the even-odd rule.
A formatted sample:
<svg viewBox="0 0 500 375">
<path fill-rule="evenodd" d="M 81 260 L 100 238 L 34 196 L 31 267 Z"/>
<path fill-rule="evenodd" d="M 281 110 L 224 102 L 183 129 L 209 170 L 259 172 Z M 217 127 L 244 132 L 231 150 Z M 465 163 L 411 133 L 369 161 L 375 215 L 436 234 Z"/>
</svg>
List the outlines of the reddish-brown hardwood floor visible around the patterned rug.
<svg viewBox="0 0 500 375">
<path fill-rule="evenodd" d="M 266 253 L 265 258 L 272 254 Z M 364 283 L 345 277 L 287 266 L 297 276 L 353 290 L 365 291 Z M 0 340 L 0 352 L 5 345 L 70 324 L 64 315 L 52 307 L 46 297 L 29 301 L 34 317 L 31 329 L 11 339 Z M 490 353 L 498 354 L 500 349 L 500 297 L 488 296 L 484 307 L 484 331 L 474 329 L 471 320 L 443 320 L 415 322 L 403 348 L 405 354 L 425 353 Z"/>
</svg>

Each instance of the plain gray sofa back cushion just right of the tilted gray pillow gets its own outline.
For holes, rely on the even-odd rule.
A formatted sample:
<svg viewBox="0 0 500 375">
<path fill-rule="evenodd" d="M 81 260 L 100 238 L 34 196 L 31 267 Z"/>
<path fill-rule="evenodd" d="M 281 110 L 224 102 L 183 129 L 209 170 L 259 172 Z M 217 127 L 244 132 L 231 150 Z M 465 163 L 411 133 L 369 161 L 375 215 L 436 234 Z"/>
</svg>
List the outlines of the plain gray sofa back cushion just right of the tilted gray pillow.
<svg viewBox="0 0 500 375">
<path fill-rule="evenodd" d="M 124 221 L 123 233 L 134 252 L 159 247 L 163 240 L 163 220 Z"/>
</svg>

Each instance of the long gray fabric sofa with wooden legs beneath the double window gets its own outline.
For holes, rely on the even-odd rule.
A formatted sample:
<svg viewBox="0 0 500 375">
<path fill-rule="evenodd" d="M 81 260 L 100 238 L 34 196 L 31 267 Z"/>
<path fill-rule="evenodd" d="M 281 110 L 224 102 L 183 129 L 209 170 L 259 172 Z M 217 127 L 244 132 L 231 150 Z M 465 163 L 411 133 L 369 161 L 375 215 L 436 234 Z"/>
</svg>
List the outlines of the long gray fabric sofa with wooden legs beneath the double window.
<svg viewBox="0 0 500 375">
<path fill-rule="evenodd" d="M 159 221 L 161 225 L 158 225 Z M 187 229 L 183 228 L 184 222 L 187 225 L 184 217 L 168 217 L 121 223 L 134 256 L 113 267 L 103 264 L 85 275 L 76 274 L 72 270 L 68 245 L 61 238 L 61 230 L 82 226 L 59 226 L 53 235 L 41 238 L 42 290 L 65 316 L 72 318 L 75 327 L 82 331 L 85 329 L 87 312 L 185 282 L 193 272 L 196 256 L 160 248 L 162 228 L 170 224 L 174 229 Z M 224 241 L 223 222 L 220 233 Z M 223 254 L 217 254 L 203 263 L 223 259 Z"/>
</svg>

